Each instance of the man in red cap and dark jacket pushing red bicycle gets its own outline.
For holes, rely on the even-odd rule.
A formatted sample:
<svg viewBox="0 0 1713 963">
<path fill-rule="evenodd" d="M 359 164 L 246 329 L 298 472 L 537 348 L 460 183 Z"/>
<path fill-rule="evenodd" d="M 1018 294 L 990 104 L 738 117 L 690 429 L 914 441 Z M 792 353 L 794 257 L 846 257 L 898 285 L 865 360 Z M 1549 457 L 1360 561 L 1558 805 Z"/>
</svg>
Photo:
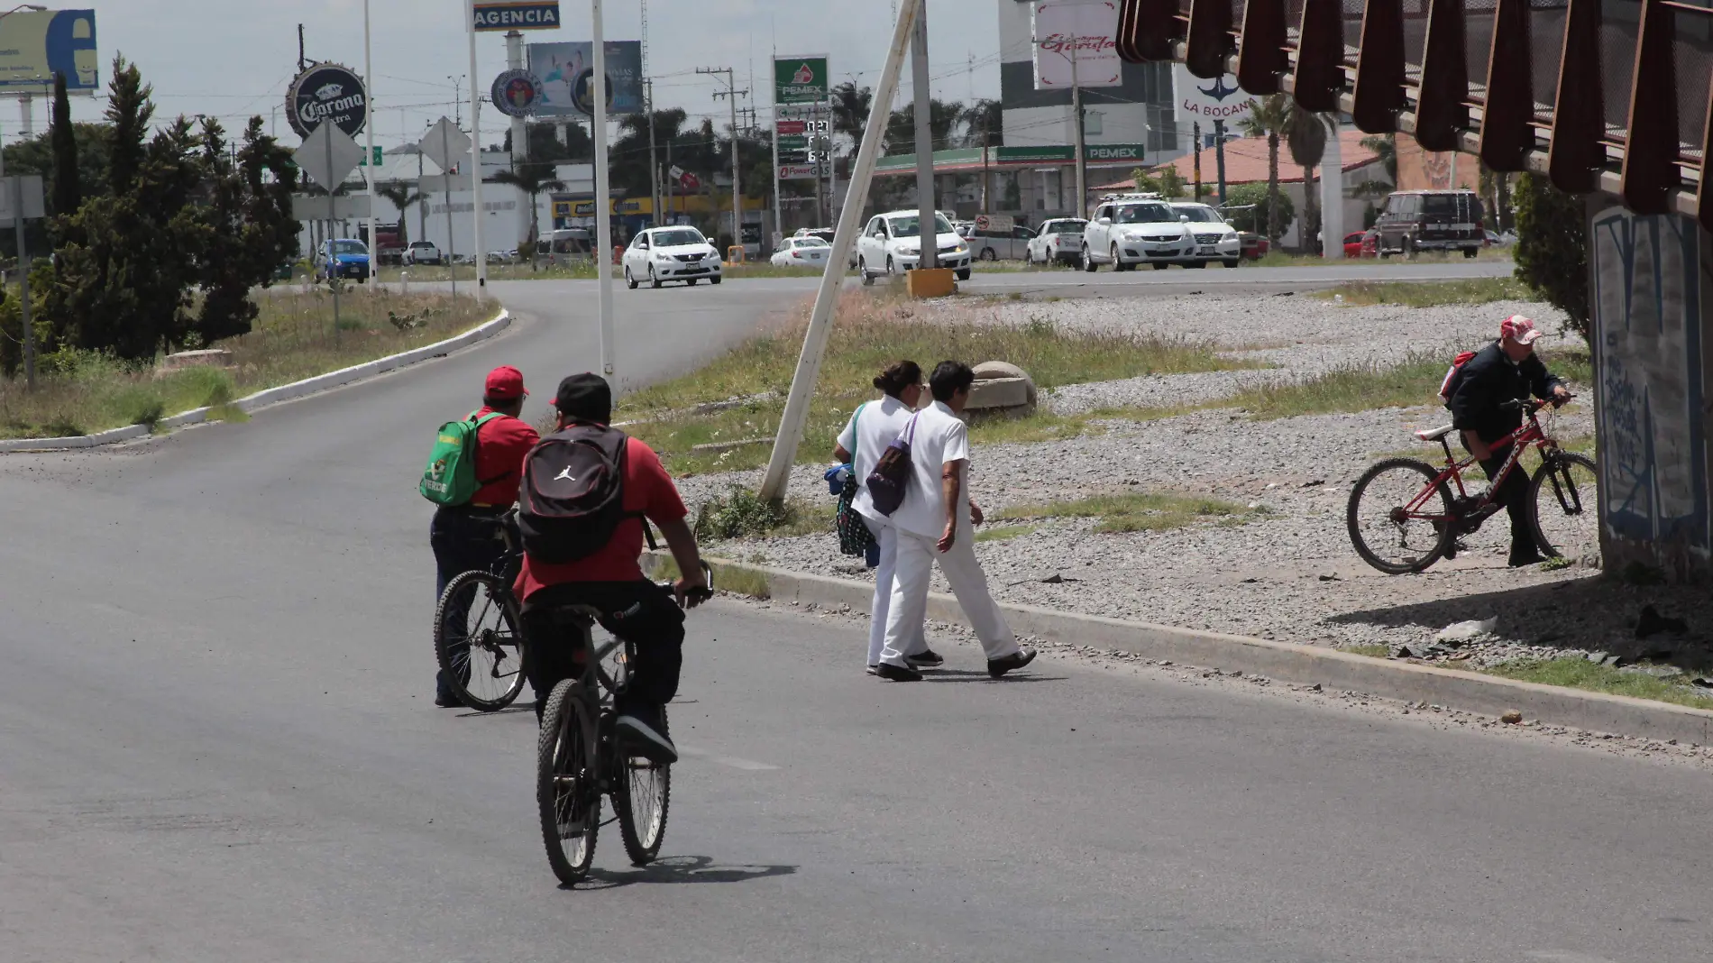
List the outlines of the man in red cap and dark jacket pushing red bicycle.
<svg viewBox="0 0 1713 963">
<path fill-rule="evenodd" d="M 1562 403 L 1571 396 L 1564 379 L 1549 372 L 1535 355 L 1537 338 L 1540 329 L 1535 322 L 1514 314 L 1499 324 L 1499 339 L 1477 351 L 1453 375 L 1456 382 L 1447 401 L 1451 423 L 1463 432 L 1463 447 L 1480 459 L 1487 478 L 1497 478 L 1511 456 L 1509 444 L 1494 444 L 1523 427 L 1521 408 L 1504 408 L 1507 401 L 1533 394 Z M 1511 516 L 1511 567 L 1545 562 L 1528 524 L 1526 473 L 1513 468 L 1495 493 Z"/>
</svg>

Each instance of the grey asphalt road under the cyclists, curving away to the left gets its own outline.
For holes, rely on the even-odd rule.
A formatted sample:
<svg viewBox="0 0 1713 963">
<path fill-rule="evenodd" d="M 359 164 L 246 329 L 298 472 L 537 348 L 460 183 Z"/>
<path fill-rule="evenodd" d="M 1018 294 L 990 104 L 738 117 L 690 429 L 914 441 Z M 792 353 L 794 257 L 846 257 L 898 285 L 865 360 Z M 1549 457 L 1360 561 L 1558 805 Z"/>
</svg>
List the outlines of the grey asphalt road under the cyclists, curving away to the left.
<svg viewBox="0 0 1713 963">
<path fill-rule="evenodd" d="M 1706 958 L 1706 773 L 971 646 L 880 684 L 860 631 L 735 601 L 692 615 L 668 858 L 610 828 L 560 889 L 533 716 L 432 706 L 413 493 L 488 367 L 588 367 L 588 303 L 531 288 L 432 367 L 0 459 L 0 958 Z M 781 303 L 646 295 L 637 377 Z"/>
</svg>

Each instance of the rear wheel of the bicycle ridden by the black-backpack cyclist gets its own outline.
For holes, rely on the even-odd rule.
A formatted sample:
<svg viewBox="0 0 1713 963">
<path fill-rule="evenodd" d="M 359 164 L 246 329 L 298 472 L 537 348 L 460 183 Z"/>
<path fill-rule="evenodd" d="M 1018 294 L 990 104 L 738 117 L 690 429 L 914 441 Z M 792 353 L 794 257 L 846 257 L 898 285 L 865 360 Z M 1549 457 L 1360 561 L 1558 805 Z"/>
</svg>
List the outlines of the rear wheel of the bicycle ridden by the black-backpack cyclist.
<svg viewBox="0 0 1713 963">
<path fill-rule="evenodd" d="M 553 876 L 570 886 L 589 874 L 594 838 L 601 829 L 601 790 L 596 778 L 593 708 L 582 684 L 565 679 L 553 685 L 541 711 L 536 744 L 536 807 L 541 841 Z"/>
</svg>

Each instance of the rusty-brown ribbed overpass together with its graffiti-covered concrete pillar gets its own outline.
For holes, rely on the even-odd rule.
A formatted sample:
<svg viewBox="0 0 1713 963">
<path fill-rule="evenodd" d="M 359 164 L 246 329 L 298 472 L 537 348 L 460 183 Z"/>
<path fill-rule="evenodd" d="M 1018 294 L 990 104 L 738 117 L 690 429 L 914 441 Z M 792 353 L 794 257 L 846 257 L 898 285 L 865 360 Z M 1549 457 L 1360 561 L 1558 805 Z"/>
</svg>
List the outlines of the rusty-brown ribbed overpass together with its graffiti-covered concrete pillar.
<svg viewBox="0 0 1713 963">
<path fill-rule="evenodd" d="M 1120 0 L 1117 46 L 1588 195 L 1603 562 L 1713 577 L 1713 0 Z"/>
</svg>

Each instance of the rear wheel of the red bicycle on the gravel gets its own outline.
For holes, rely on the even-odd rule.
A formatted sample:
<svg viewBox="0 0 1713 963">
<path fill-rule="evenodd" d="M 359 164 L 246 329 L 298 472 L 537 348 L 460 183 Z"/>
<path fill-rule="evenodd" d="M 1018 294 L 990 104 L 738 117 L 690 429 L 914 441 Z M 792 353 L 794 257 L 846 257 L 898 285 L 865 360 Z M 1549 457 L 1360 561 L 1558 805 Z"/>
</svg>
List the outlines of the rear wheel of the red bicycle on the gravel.
<svg viewBox="0 0 1713 963">
<path fill-rule="evenodd" d="M 1413 458 L 1388 458 L 1357 478 L 1345 524 L 1364 562 L 1400 576 L 1420 572 L 1446 553 L 1456 536 L 1446 524 L 1451 490 L 1434 485 L 1435 478 L 1432 464 Z M 1424 514 L 1437 517 L 1418 517 Z"/>
</svg>

